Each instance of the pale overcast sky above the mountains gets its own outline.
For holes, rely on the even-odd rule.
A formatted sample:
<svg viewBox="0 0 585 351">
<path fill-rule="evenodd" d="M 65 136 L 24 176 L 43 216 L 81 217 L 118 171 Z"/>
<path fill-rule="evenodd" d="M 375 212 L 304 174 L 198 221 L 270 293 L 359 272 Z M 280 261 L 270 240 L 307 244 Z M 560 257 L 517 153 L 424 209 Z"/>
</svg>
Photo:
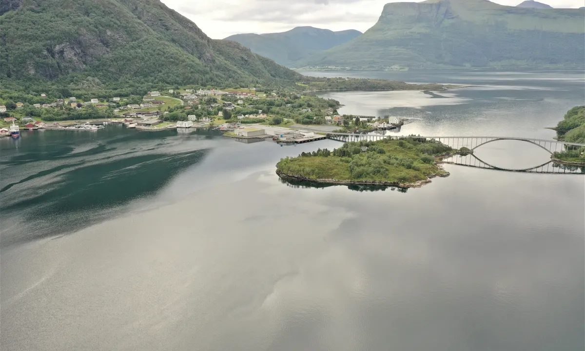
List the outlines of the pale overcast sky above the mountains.
<svg viewBox="0 0 585 351">
<path fill-rule="evenodd" d="M 191 19 L 213 39 L 237 33 L 284 32 L 297 26 L 365 32 L 376 23 L 384 4 L 394 0 L 161 0 Z M 497 0 L 518 5 L 524 0 Z M 418 2 L 418 1 L 417 1 Z M 579 8 L 585 0 L 540 1 L 554 8 Z"/>
</svg>

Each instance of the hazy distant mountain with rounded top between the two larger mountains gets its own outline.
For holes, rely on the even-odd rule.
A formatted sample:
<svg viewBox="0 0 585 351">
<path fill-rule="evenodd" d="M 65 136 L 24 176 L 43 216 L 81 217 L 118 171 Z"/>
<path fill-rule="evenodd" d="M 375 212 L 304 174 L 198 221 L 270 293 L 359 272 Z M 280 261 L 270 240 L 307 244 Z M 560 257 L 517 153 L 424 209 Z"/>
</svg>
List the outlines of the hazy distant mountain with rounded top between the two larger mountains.
<svg viewBox="0 0 585 351">
<path fill-rule="evenodd" d="M 252 52 L 273 59 L 278 64 L 292 66 L 311 54 L 349 42 L 360 35 L 362 32 L 353 29 L 333 32 L 315 27 L 296 27 L 282 33 L 236 34 L 225 39 L 247 46 Z"/>
</svg>

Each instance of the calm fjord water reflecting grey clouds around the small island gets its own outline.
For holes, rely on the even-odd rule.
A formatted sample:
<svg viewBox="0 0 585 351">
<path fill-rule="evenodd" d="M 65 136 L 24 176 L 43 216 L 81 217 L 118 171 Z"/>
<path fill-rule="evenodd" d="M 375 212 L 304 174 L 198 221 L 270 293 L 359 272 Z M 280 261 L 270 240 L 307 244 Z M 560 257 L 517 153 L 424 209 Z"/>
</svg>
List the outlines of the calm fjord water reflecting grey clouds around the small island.
<svg viewBox="0 0 585 351">
<path fill-rule="evenodd" d="M 401 134 L 550 139 L 585 97 L 583 72 L 351 74 L 474 85 L 326 94 L 411 118 Z M 477 153 L 549 157 L 508 143 Z M 446 165 L 360 192 L 274 174 L 338 145 L 122 126 L 1 139 L 2 350 L 583 349 L 582 175 Z"/>
</svg>

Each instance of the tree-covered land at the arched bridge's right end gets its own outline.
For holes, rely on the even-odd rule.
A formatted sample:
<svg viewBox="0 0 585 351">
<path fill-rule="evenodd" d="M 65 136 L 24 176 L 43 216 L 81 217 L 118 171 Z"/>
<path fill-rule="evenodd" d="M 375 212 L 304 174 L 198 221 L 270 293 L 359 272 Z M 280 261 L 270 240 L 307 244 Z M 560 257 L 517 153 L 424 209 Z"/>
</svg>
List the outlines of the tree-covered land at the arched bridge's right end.
<svg viewBox="0 0 585 351">
<path fill-rule="evenodd" d="M 585 106 L 570 109 L 555 128 L 557 138 L 569 143 L 585 144 Z M 567 146 L 555 152 L 552 159 L 567 164 L 585 164 L 585 147 Z"/>
</svg>

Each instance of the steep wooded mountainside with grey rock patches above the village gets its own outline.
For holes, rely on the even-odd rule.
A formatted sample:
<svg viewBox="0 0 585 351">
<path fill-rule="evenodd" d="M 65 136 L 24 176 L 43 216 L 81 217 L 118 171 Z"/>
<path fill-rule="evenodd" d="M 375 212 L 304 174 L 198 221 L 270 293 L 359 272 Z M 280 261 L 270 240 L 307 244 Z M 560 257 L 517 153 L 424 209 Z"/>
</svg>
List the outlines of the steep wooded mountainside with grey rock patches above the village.
<svg viewBox="0 0 585 351">
<path fill-rule="evenodd" d="M 70 84 L 280 84 L 301 76 L 212 40 L 159 0 L 4 0 L 0 79 Z"/>
</svg>

